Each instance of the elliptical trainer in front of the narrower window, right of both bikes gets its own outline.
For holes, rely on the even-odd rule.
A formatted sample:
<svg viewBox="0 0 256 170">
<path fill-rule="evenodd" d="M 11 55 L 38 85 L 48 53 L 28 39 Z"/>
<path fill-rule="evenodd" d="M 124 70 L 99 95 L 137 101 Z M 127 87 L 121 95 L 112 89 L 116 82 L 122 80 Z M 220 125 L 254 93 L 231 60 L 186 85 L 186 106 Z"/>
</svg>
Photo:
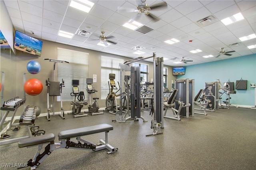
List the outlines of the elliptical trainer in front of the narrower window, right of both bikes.
<svg viewBox="0 0 256 170">
<path fill-rule="evenodd" d="M 108 97 L 106 99 L 106 109 L 109 111 L 109 113 L 116 114 L 118 113 L 118 104 L 116 98 L 120 96 L 120 94 L 117 94 L 118 91 L 120 90 L 120 84 L 118 83 L 119 89 L 116 87 L 116 82 L 115 82 L 116 74 L 109 74 L 109 79 L 108 81 L 108 87 L 109 87 L 109 93 Z M 114 90 L 117 90 L 114 92 Z"/>
</svg>

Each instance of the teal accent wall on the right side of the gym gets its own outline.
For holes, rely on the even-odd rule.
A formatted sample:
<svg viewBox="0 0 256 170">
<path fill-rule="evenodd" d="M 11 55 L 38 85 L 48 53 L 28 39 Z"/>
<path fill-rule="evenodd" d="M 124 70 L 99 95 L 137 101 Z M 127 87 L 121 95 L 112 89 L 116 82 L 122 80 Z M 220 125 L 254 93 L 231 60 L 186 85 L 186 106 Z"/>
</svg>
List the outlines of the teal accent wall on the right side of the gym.
<svg viewBox="0 0 256 170">
<path fill-rule="evenodd" d="M 194 79 L 195 95 L 204 88 L 206 82 L 216 82 L 219 79 L 224 84 L 230 80 L 234 82 L 235 88 L 236 80 L 242 78 L 247 80 L 247 90 L 235 89 L 236 94 L 230 94 L 230 103 L 254 106 L 255 91 L 250 83 L 256 83 L 256 54 L 186 66 L 186 74 L 177 76 L 177 79 L 184 78 Z M 222 99 L 224 98 L 226 99 L 226 94 L 222 95 Z"/>
</svg>

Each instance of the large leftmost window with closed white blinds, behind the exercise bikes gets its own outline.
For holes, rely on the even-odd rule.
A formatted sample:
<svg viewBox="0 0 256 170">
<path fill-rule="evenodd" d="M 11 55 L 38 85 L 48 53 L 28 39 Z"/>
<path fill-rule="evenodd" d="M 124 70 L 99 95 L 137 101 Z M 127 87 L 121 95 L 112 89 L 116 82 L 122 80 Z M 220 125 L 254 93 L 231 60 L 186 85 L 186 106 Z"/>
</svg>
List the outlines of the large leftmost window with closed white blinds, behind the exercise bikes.
<svg viewBox="0 0 256 170">
<path fill-rule="evenodd" d="M 72 80 L 79 80 L 79 91 L 84 91 L 85 99 L 89 98 L 86 91 L 86 78 L 88 78 L 88 58 L 89 53 L 58 48 L 58 60 L 69 63 L 56 63 L 57 81 L 64 80 L 65 87 L 62 88 L 62 101 L 74 101 Z M 57 96 L 60 101 L 60 96 Z"/>
</svg>

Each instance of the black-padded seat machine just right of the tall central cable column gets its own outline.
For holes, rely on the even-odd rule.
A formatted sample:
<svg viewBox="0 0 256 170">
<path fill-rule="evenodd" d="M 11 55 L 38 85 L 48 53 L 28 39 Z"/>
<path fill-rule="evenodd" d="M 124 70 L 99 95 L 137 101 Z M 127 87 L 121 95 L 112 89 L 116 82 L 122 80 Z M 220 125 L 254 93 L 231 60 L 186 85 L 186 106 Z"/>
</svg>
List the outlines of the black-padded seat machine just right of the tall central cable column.
<svg viewBox="0 0 256 170">
<path fill-rule="evenodd" d="M 184 102 L 176 100 L 178 91 L 179 91 L 178 89 L 174 89 L 172 94 L 171 94 L 171 96 L 170 96 L 170 98 L 168 99 L 168 101 L 164 102 L 164 107 L 165 107 L 164 117 L 180 121 L 181 120 L 180 119 L 180 111 L 181 111 L 181 109 L 183 107 L 189 107 L 191 105 L 189 103 L 188 104 L 184 104 Z M 175 108 L 175 102 L 177 102 L 179 104 L 178 110 Z M 170 108 L 172 110 L 172 112 L 173 112 L 173 116 L 172 117 L 166 116 L 166 112 L 167 112 L 168 108 Z"/>
</svg>

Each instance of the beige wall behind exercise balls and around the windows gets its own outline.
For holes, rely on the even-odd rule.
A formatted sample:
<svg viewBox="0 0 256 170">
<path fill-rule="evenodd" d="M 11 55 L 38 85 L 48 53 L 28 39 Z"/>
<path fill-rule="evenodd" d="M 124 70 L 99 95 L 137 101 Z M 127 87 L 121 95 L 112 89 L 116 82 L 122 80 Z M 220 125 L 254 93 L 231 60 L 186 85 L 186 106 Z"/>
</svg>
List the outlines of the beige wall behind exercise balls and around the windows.
<svg viewBox="0 0 256 170">
<path fill-rule="evenodd" d="M 27 105 L 36 105 L 41 108 L 41 113 L 47 112 L 47 86 L 45 84 L 45 81 L 50 78 L 50 80 L 53 80 L 53 62 L 49 62 L 44 59 L 57 59 L 57 47 L 64 48 L 64 49 L 71 49 L 76 51 L 82 51 L 89 53 L 89 72 L 88 76 L 92 77 L 93 74 L 97 75 L 97 82 L 94 83 L 94 88 L 98 90 L 97 93 L 92 94 L 93 97 L 99 97 L 100 98 L 100 72 L 101 72 L 101 56 L 108 56 L 108 57 L 116 57 L 116 58 L 122 58 L 124 61 L 130 59 L 127 57 L 121 57 L 118 55 L 112 55 L 108 53 L 102 53 L 98 51 L 92 51 L 88 49 L 83 49 L 80 47 L 73 47 L 70 45 L 64 45 L 60 43 L 54 43 L 51 41 L 43 41 L 43 47 L 42 47 L 42 55 L 41 57 L 36 57 L 34 55 L 23 53 L 21 51 L 16 51 L 16 55 L 12 53 L 10 56 L 10 49 L 4 50 L 1 49 L 1 71 L 6 72 L 6 78 L 5 78 L 5 100 L 8 100 L 9 98 L 14 98 L 15 96 L 19 96 L 20 98 L 23 98 L 24 96 L 24 90 L 23 90 L 23 76 L 25 74 L 26 80 L 30 78 L 36 78 L 40 80 L 43 84 L 43 91 L 37 95 L 37 96 L 26 96 L 26 106 Z M 157 56 L 160 57 L 160 56 Z M 29 74 L 26 70 L 26 64 L 31 61 L 35 60 L 38 61 L 41 65 L 41 70 L 38 74 Z M 141 61 L 140 63 L 148 64 L 149 65 L 149 76 L 148 80 L 150 81 L 151 78 L 153 78 L 153 63 L 147 62 L 147 61 Z M 175 80 L 176 76 L 172 75 L 172 67 L 165 66 L 168 68 L 168 88 L 171 89 L 171 80 Z M 55 80 L 57 80 L 57 68 L 55 70 Z M 56 100 L 56 98 L 55 98 Z M 105 107 L 105 100 L 99 100 L 99 106 Z M 52 97 L 50 97 L 50 104 L 52 104 Z M 84 106 L 85 109 L 87 109 L 86 106 Z M 70 102 L 63 102 L 63 108 L 64 111 L 70 111 L 71 105 Z M 55 112 L 60 111 L 60 102 L 55 101 Z M 16 115 L 20 115 L 22 111 L 17 113 Z M 66 112 L 65 112 L 66 113 Z"/>
</svg>

